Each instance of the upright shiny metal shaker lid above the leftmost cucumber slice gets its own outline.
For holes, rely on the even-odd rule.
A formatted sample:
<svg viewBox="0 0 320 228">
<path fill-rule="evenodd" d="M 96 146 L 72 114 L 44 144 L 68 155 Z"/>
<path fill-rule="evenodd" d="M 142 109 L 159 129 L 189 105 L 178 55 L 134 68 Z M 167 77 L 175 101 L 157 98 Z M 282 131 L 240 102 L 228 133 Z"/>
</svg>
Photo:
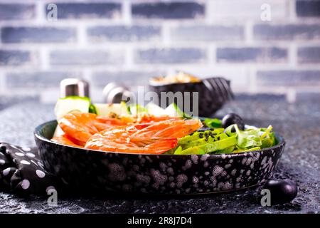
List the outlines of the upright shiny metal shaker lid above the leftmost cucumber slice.
<svg viewBox="0 0 320 228">
<path fill-rule="evenodd" d="M 60 82 L 60 98 L 65 98 L 68 95 L 78 95 L 89 98 L 89 83 L 78 78 L 63 79 L 63 81 Z"/>
</svg>

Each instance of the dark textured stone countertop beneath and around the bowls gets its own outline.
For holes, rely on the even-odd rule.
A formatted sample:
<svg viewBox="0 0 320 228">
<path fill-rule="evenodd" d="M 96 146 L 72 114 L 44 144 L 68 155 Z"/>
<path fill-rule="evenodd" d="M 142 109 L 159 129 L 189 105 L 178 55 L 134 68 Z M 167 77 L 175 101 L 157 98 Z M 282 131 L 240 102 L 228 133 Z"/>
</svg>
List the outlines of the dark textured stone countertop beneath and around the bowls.
<svg viewBox="0 0 320 228">
<path fill-rule="evenodd" d="M 289 104 L 281 96 L 243 97 L 228 103 L 218 115 L 235 112 L 247 123 L 274 129 L 287 141 L 274 177 L 297 182 L 291 203 L 262 207 L 260 190 L 242 190 L 201 197 L 60 197 L 49 206 L 46 197 L 18 197 L 0 192 L 0 212 L 9 213 L 319 213 L 320 102 Z M 35 101 L 0 110 L 0 142 L 31 147 L 36 125 L 54 119 L 53 105 Z"/>
</svg>

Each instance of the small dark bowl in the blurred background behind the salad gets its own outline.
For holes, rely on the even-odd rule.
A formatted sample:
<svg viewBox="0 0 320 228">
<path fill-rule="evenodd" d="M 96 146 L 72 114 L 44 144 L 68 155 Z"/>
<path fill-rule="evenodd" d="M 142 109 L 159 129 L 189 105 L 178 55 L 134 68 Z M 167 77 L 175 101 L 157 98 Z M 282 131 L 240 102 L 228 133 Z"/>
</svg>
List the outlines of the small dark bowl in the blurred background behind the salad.
<svg viewBox="0 0 320 228">
<path fill-rule="evenodd" d="M 212 80 L 213 78 L 206 78 L 206 80 L 210 79 Z M 230 89 L 230 81 L 225 80 L 224 78 L 222 78 L 222 80 L 228 83 L 228 90 L 230 90 L 229 92 L 232 93 Z M 208 88 L 203 81 L 196 83 L 153 83 L 150 81 L 149 90 L 156 92 L 159 98 L 161 98 L 161 92 L 166 92 L 169 96 L 169 99 L 166 100 L 165 106 L 170 105 L 169 100 L 174 100 L 173 93 L 189 92 L 191 94 L 191 98 L 187 101 L 187 103 L 190 104 L 191 110 L 193 107 L 192 93 L 198 92 L 198 116 L 211 116 L 220 108 L 222 108 L 223 105 L 228 101 L 225 99 L 225 97 L 228 97 L 228 91 L 225 90 L 225 88 L 222 88 L 215 93 L 212 89 Z M 172 92 L 171 95 L 169 92 Z M 183 104 L 185 104 L 184 100 Z M 189 115 L 193 114 L 189 112 L 189 108 L 185 109 L 185 107 L 181 107 L 181 105 L 179 105 L 179 108 Z"/>
</svg>

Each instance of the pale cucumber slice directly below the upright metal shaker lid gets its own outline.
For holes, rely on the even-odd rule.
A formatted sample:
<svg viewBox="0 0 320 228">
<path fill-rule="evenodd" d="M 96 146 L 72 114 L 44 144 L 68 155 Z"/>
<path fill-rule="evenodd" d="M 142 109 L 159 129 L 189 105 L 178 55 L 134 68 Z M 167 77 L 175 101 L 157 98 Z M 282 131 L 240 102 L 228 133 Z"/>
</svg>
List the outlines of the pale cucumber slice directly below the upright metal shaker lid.
<svg viewBox="0 0 320 228">
<path fill-rule="evenodd" d="M 65 98 L 60 98 L 57 103 L 55 103 L 55 116 L 59 120 L 74 110 L 78 110 L 81 113 L 87 113 L 90 107 L 90 98 L 78 97 L 78 96 L 68 96 Z"/>
</svg>

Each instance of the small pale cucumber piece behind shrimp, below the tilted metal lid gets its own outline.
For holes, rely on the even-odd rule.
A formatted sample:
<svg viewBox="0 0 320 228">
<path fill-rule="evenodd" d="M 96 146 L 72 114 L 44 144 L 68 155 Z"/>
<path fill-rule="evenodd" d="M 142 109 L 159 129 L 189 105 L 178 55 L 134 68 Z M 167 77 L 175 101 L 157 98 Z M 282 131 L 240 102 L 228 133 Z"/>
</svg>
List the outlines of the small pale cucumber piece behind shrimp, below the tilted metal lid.
<svg viewBox="0 0 320 228">
<path fill-rule="evenodd" d="M 117 115 L 129 115 L 127 105 L 124 101 L 122 101 L 119 104 L 97 103 L 94 105 L 97 115 L 108 116 L 109 113 L 115 113 Z"/>
</svg>

